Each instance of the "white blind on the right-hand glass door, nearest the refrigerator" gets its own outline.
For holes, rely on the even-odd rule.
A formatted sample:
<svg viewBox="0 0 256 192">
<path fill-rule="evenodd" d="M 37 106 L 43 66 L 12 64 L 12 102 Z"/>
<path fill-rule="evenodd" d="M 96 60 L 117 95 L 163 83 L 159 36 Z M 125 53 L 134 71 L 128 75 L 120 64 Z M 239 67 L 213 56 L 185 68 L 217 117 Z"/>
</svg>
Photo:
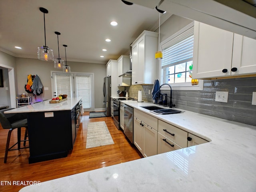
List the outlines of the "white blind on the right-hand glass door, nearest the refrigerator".
<svg viewBox="0 0 256 192">
<path fill-rule="evenodd" d="M 91 108 L 90 75 L 76 75 L 77 97 L 82 98 L 83 108 Z"/>
</svg>

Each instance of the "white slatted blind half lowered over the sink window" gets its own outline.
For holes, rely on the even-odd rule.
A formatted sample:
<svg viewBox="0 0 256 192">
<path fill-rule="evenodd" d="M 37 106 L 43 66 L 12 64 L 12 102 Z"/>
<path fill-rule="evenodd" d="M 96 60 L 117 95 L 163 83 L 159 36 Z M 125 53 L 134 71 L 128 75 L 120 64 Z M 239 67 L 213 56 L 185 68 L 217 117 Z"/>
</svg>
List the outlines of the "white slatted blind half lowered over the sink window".
<svg viewBox="0 0 256 192">
<path fill-rule="evenodd" d="M 162 45 L 162 68 L 188 62 L 193 59 L 194 27 Z"/>
</svg>

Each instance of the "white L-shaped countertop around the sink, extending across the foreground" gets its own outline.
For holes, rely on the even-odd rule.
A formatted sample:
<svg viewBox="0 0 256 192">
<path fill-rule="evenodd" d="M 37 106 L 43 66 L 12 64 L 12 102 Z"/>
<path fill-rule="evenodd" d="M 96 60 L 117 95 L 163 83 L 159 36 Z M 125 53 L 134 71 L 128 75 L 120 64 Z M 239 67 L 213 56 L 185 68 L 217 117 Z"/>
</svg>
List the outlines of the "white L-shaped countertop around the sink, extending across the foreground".
<svg viewBox="0 0 256 192">
<path fill-rule="evenodd" d="M 255 192 L 256 127 L 186 111 L 155 115 L 208 143 L 26 186 L 20 192 Z"/>
</svg>

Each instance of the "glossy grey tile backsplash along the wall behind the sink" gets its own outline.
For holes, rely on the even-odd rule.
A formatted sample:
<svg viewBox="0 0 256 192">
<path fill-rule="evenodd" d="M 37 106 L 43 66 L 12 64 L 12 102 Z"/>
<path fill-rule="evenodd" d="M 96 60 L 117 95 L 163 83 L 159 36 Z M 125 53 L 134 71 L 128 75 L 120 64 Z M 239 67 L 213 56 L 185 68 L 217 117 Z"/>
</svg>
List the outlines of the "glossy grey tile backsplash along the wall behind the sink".
<svg viewBox="0 0 256 192">
<path fill-rule="evenodd" d="M 153 85 L 130 86 L 128 94 L 138 98 L 138 90 L 142 90 L 142 100 L 152 102 L 152 95 L 148 94 L 152 88 Z M 228 102 L 216 102 L 216 91 L 228 91 Z M 204 80 L 202 91 L 173 90 L 172 102 L 180 109 L 256 126 L 252 92 L 256 92 L 256 77 Z M 170 95 L 169 91 L 166 93 Z"/>
</svg>

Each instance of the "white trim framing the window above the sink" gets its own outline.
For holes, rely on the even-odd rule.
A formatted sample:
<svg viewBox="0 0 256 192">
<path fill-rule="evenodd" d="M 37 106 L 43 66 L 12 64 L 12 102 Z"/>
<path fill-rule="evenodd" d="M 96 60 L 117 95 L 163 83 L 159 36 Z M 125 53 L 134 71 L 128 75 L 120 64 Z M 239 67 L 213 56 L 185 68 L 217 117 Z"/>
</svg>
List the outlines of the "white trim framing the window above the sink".
<svg viewBox="0 0 256 192">
<path fill-rule="evenodd" d="M 170 40 L 172 40 L 173 38 L 176 38 L 177 36 L 184 33 L 186 30 L 192 28 L 193 26 L 194 26 L 194 21 L 188 24 L 187 26 L 185 26 L 184 28 L 182 28 L 181 30 L 179 30 L 178 32 L 171 35 L 166 40 L 163 40 L 162 42 L 160 42 L 160 50 L 162 51 L 164 45 L 168 46 Z M 163 74 L 163 70 L 162 70 L 162 65 L 160 60 L 159 61 L 159 77 L 160 77 L 159 79 L 161 84 L 164 83 L 162 82 L 162 79 L 163 79 L 162 74 Z M 172 90 L 203 90 L 204 80 L 198 80 L 198 85 L 192 85 L 191 82 L 184 82 L 184 83 L 170 83 L 170 86 L 172 87 Z M 164 90 L 164 87 L 162 89 Z"/>
</svg>

